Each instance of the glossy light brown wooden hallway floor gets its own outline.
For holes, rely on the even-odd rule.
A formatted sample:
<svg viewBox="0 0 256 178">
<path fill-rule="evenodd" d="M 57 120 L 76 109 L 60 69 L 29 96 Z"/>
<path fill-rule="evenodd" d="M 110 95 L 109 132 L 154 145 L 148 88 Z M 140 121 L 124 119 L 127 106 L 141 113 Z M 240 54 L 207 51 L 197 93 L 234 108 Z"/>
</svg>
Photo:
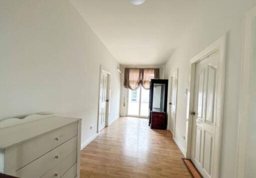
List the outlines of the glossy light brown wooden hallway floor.
<svg viewBox="0 0 256 178">
<path fill-rule="evenodd" d="M 80 177 L 190 177 L 167 130 L 120 117 L 82 151 Z"/>
</svg>

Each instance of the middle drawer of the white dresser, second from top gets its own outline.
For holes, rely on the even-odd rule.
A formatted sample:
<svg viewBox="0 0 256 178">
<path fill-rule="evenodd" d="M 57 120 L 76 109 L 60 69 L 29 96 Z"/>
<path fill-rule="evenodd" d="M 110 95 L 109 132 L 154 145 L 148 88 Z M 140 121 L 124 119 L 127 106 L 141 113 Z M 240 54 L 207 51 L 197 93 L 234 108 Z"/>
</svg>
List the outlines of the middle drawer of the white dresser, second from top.
<svg viewBox="0 0 256 178">
<path fill-rule="evenodd" d="M 16 176 L 21 178 L 36 178 L 42 176 L 53 166 L 63 161 L 67 155 L 76 150 L 76 144 L 77 136 L 74 136 L 55 149 L 17 170 Z"/>
</svg>

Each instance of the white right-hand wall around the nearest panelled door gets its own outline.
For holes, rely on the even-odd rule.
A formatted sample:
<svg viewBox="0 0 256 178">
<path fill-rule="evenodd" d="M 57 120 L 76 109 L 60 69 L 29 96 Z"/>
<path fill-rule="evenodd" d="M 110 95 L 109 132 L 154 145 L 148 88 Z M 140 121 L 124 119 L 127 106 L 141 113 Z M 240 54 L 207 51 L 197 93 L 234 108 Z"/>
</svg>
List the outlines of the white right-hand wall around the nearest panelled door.
<svg viewBox="0 0 256 178">
<path fill-rule="evenodd" d="M 178 68 L 176 141 L 183 148 L 185 140 L 186 101 L 184 89 L 188 87 L 189 59 L 228 32 L 223 132 L 220 177 L 234 177 L 238 124 L 239 77 L 242 48 L 243 16 L 256 4 L 256 0 L 197 0 L 195 19 L 165 65 L 165 78 Z"/>
</svg>

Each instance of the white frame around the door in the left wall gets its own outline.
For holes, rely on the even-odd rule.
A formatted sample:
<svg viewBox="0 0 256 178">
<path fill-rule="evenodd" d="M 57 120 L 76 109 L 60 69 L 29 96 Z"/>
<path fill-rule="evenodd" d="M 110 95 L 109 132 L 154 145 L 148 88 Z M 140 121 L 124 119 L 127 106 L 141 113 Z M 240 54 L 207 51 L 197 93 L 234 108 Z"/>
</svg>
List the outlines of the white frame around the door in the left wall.
<svg viewBox="0 0 256 178">
<path fill-rule="evenodd" d="M 106 69 L 105 67 L 103 67 L 102 65 L 100 65 L 100 72 L 99 72 L 99 89 L 98 89 L 98 123 L 97 123 L 97 133 L 99 133 L 99 110 L 100 110 L 100 77 L 102 72 L 107 73 L 107 104 L 106 104 L 106 110 L 107 110 L 107 114 L 106 114 L 106 126 L 109 125 L 109 105 L 110 105 L 110 92 L 111 92 L 111 88 L 110 88 L 110 83 L 111 83 L 111 72 Z"/>
</svg>

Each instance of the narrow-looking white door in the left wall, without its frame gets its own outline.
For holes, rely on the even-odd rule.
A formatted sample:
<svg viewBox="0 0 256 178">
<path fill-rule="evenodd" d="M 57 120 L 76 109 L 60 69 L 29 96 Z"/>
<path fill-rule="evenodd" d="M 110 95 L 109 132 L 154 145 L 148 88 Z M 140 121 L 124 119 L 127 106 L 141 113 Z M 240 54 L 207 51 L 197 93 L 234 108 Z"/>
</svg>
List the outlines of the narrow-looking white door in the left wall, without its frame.
<svg viewBox="0 0 256 178">
<path fill-rule="evenodd" d="M 108 74 L 102 70 L 100 74 L 100 90 L 99 90 L 99 116 L 98 130 L 102 130 L 106 126 L 107 102 L 108 102 Z"/>
</svg>

